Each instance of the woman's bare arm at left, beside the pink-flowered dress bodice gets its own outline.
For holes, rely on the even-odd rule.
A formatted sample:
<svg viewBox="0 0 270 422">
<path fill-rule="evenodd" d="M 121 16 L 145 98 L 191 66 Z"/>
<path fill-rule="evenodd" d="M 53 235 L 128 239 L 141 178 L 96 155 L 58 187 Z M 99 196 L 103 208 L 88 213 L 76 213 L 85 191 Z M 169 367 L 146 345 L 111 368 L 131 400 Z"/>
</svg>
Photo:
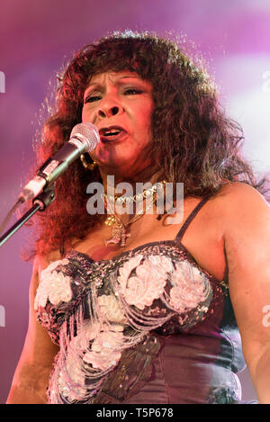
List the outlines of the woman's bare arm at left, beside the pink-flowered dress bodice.
<svg viewBox="0 0 270 422">
<path fill-rule="evenodd" d="M 36 257 L 33 265 L 29 326 L 6 404 L 42 404 L 48 401 L 46 389 L 58 346 L 52 343 L 46 329 L 41 327 L 34 310 L 40 270 L 48 264 L 46 260 Z"/>
</svg>

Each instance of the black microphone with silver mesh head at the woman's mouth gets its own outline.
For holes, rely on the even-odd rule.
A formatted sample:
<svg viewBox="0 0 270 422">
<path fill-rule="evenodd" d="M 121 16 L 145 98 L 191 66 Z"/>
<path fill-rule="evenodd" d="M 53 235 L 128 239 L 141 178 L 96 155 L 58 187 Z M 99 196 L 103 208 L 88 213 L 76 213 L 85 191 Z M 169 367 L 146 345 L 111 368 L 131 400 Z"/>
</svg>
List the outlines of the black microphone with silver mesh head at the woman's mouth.
<svg viewBox="0 0 270 422">
<path fill-rule="evenodd" d="M 96 148 L 99 141 L 99 133 L 94 124 L 76 124 L 68 142 L 53 157 L 45 161 L 37 171 L 37 175 L 25 184 L 18 202 L 26 202 L 37 196 L 44 186 L 52 184 L 81 154 Z"/>
</svg>

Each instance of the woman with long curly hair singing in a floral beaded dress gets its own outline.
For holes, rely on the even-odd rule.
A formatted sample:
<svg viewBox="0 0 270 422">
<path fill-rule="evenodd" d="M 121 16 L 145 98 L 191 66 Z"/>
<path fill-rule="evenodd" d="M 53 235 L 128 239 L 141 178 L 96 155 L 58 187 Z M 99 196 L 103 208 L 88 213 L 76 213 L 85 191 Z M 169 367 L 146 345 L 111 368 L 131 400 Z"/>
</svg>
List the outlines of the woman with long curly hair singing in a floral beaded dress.
<svg viewBox="0 0 270 422">
<path fill-rule="evenodd" d="M 175 41 L 114 33 L 59 76 L 40 161 L 80 122 L 100 142 L 38 216 L 29 329 L 7 402 L 240 403 L 247 363 L 270 403 L 265 184 L 209 77 Z M 108 214 L 119 198 L 108 176 L 133 188 L 121 197 L 129 213 Z M 87 211 L 94 182 L 104 213 Z M 157 209 L 168 184 L 174 204 L 184 186 L 177 223 Z"/>
</svg>

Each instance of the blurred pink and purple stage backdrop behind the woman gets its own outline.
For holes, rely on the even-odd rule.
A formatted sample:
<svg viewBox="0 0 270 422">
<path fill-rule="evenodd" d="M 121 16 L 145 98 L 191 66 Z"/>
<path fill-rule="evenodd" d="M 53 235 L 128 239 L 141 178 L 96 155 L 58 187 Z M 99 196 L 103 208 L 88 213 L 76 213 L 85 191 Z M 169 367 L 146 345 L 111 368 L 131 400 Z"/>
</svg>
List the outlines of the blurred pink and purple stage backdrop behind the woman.
<svg viewBox="0 0 270 422">
<path fill-rule="evenodd" d="M 0 221 L 13 206 L 33 157 L 40 105 L 49 80 L 71 52 L 113 30 L 184 32 L 208 61 L 220 102 L 246 134 L 257 172 L 270 168 L 269 0 L 2 0 L 0 7 Z M 1 86 L 1 85 L 0 85 Z M 3 89 L 2 89 L 3 90 Z M 28 323 L 31 265 L 19 254 L 21 229 L 0 248 L 0 402 L 4 403 Z M 248 371 L 243 400 L 256 398 Z"/>
</svg>

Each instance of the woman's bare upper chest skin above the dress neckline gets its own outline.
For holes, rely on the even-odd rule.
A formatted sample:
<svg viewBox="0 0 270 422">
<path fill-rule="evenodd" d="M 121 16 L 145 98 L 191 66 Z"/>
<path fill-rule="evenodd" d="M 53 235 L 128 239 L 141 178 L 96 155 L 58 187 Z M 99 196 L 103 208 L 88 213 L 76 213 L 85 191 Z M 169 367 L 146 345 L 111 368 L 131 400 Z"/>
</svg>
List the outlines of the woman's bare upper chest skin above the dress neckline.
<svg viewBox="0 0 270 422">
<path fill-rule="evenodd" d="M 88 236 L 76 242 L 73 248 L 90 256 L 94 261 L 110 260 L 121 256 L 123 252 L 135 249 L 141 245 L 152 244 L 164 240 L 173 240 L 179 234 L 184 221 L 193 210 L 193 203 L 184 208 L 184 216 L 175 224 L 168 224 L 168 219 L 157 220 L 157 215 L 144 215 L 139 220 L 130 224 L 124 233 L 124 245 L 111 243 L 115 238 L 115 227 L 105 224 L 91 230 Z M 108 243 L 109 240 L 109 243 Z M 193 219 L 184 231 L 182 244 L 195 261 L 217 280 L 222 280 L 225 272 L 224 242 L 222 224 L 211 208 L 205 209 Z"/>
</svg>

